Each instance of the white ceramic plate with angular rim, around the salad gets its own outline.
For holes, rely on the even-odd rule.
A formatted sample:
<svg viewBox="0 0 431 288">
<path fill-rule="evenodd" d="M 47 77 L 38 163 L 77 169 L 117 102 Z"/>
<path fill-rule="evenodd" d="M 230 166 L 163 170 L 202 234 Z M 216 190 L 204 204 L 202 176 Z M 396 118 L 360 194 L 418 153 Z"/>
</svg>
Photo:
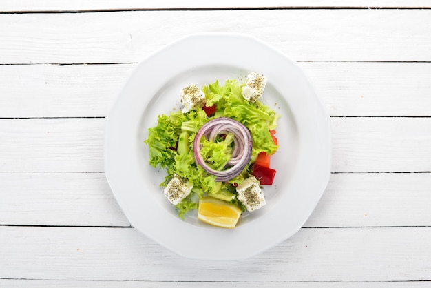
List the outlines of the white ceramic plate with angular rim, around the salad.
<svg viewBox="0 0 431 288">
<path fill-rule="evenodd" d="M 148 164 L 148 128 L 159 114 L 180 109 L 186 85 L 241 81 L 249 72 L 266 75 L 263 101 L 281 114 L 267 204 L 235 229 L 200 223 L 193 213 L 181 220 L 159 187 L 165 171 Z M 304 72 L 242 34 L 193 34 L 154 53 L 137 65 L 106 119 L 105 174 L 120 207 L 136 229 L 187 258 L 249 258 L 295 234 L 324 192 L 330 162 L 329 117 Z"/>
</svg>

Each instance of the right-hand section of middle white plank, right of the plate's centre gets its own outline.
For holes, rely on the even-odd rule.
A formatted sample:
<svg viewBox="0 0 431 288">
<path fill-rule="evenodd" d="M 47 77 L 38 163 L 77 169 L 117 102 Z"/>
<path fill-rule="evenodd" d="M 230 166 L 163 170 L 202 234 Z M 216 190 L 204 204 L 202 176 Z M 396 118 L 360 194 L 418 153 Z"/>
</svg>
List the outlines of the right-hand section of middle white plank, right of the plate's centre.
<svg viewBox="0 0 431 288">
<path fill-rule="evenodd" d="M 331 119 L 333 172 L 430 172 L 431 118 Z"/>
</svg>

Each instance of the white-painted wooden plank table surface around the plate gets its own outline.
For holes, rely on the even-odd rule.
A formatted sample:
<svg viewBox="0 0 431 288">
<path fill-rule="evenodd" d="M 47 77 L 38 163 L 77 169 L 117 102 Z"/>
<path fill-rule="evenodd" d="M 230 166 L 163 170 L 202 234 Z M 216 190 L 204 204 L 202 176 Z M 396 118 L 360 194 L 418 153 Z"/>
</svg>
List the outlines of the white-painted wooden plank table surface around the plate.
<svg viewBox="0 0 431 288">
<path fill-rule="evenodd" d="M 430 1 L 0 1 L 0 287 L 430 287 Z M 333 169 L 295 236 L 254 258 L 181 258 L 129 224 L 105 116 L 136 63 L 240 32 L 306 70 Z"/>
</svg>

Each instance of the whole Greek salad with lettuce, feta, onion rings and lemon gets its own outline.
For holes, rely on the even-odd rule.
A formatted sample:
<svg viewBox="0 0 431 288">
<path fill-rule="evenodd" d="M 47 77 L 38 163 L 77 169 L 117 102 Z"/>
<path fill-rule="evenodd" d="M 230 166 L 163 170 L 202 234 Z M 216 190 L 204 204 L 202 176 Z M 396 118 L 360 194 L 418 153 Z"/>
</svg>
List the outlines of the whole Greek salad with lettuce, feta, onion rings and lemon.
<svg viewBox="0 0 431 288">
<path fill-rule="evenodd" d="M 261 101 L 266 83 L 252 72 L 242 83 L 188 85 L 182 110 L 159 115 L 149 128 L 149 164 L 166 170 L 160 187 L 180 218 L 198 209 L 198 219 L 232 228 L 241 212 L 266 204 L 262 185 L 275 178 L 280 116 Z"/>
</svg>

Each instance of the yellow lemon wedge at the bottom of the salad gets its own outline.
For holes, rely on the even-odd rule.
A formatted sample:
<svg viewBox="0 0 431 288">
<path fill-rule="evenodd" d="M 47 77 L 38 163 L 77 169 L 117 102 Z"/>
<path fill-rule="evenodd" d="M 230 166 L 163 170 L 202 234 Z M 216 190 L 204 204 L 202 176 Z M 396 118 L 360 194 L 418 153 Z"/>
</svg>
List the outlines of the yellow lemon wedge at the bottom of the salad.
<svg viewBox="0 0 431 288">
<path fill-rule="evenodd" d="M 241 216 L 241 209 L 222 200 L 211 197 L 200 198 L 198 219 L 223 228 L 235 228 Z"/>
</svg>

